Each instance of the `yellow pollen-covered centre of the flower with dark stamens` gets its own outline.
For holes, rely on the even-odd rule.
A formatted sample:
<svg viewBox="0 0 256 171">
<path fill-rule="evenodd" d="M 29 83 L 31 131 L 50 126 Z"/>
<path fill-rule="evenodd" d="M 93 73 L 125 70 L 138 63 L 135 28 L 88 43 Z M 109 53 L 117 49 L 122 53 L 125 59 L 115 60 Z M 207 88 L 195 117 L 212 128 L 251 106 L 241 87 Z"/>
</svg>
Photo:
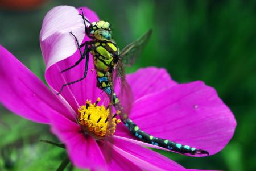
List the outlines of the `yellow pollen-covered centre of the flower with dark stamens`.
<svg viewBox="0 0 256 171">
<path fill-rule="evenodd" d="M 115 127 L 121 121 L 115 118 L 119 112 L 114 115 L 110 114 L 109 109 L 104 105 L 98 106 L 98 102 L 100 102 L 100 98 L 95 103 L 87 100 L 86 105 L 81 106 L 78 110 L 78 122 L 86 134 L 101 139 L 114 135 Z M 109 118 L 111 118 L 110 122 Z"/>
</svg>

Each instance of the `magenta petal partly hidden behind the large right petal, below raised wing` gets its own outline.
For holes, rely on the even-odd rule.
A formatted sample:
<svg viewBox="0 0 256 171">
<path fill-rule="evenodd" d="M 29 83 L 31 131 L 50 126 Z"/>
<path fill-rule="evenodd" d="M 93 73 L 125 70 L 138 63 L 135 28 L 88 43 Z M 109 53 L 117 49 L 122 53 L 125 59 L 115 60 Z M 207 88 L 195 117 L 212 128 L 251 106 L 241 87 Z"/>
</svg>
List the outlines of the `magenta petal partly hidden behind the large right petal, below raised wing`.
<svg viewBox="0 0 256 171">
<path fill-rule="evenodd" d="M 134 94 L 134 100 L 143 97 L 145 94 L 162 91 L 177 85 L 171 80 L 170 74 L 163 68 L 148 67 L 127 74 L 127 81 Z"/>
</svg>

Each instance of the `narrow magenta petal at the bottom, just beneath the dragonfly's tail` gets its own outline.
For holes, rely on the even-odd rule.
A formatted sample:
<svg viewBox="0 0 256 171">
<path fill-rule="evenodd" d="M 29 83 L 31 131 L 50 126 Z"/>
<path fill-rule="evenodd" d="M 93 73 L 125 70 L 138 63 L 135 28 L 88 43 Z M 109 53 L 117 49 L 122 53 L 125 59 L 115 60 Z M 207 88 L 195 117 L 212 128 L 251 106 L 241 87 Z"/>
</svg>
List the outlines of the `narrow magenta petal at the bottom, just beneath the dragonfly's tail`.
<svg viewBox="0 0 256 171">
<path fill-rule="evenodd" d="M 113 148 L 142 170 L 185 170 L 167 157 L 137 144 L 115 139 Z"/>
</svg>

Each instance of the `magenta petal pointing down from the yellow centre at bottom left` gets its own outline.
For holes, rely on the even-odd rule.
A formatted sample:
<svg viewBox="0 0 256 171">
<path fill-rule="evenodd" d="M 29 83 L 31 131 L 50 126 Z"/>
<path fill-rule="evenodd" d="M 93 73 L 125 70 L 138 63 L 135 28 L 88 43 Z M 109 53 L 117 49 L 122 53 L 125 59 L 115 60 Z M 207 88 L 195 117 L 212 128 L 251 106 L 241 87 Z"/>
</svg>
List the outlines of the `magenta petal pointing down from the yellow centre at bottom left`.
<svg viewBox="0 0 256 171">
<path fill-rule="evenodd" d="M 69 158 L 75 166 L 81 169 L 105 168 L 104 156 L 98 144 L 92 137 L 84 135 L 77 123 L 62 115 L 55 115 L 51 118 L 51 124 L 52 132 L 65 144 Z"/>
</svg>

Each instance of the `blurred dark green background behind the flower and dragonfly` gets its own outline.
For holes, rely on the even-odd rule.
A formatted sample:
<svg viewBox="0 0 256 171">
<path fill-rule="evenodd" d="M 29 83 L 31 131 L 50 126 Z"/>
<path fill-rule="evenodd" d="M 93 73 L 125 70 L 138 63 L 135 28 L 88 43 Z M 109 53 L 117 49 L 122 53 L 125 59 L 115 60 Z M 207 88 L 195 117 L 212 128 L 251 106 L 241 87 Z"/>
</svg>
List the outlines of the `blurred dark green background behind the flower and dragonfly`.
<svg viewBox="0 0 256 171">
<path fill-rule="evenodd" d="M 256 1 L 55 0 L 35 7 L 17 5 L 18 0 L 6 5 L 7 1 L 0 0 L 0 43 L 42 79 L 39 32 L 52 7 L 90 7 L 112 24 L 113 38 L 121 48 L 153 28 L 150 43 L 128 72 L 159 66 L 178 82 L 203 80 L 216 88 L 237 119 L 233 139 L 217 155 L 161 153 L 185 168 L 255 170 Z M 0 110 L 0 170 L 55 170 L 64 150 L 38 142 L 57 141 L 49 128 L 2 106 Z"/>
</svg>

